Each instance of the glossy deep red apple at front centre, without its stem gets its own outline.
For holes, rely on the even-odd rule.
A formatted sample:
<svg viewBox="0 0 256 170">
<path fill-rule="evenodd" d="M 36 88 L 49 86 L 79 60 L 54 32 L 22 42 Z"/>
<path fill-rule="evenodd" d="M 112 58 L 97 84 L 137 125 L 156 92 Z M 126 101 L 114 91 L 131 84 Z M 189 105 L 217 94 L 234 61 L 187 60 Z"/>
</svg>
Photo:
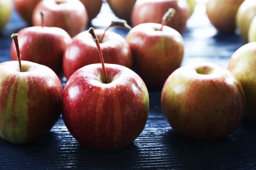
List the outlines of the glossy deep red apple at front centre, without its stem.
<svg viewBox="0 0 256 170">
<path fill-rule="evenodd" d="M 90 150 L 118 150 L 134 141 L 148 118 L 148 91 L 132 70 L 105 64 L 109 84 L 103 83 L 101 64 L 90 64 L 68 79 L 63 91 L 63 120 L 82 146 Z"/>
</svg>

